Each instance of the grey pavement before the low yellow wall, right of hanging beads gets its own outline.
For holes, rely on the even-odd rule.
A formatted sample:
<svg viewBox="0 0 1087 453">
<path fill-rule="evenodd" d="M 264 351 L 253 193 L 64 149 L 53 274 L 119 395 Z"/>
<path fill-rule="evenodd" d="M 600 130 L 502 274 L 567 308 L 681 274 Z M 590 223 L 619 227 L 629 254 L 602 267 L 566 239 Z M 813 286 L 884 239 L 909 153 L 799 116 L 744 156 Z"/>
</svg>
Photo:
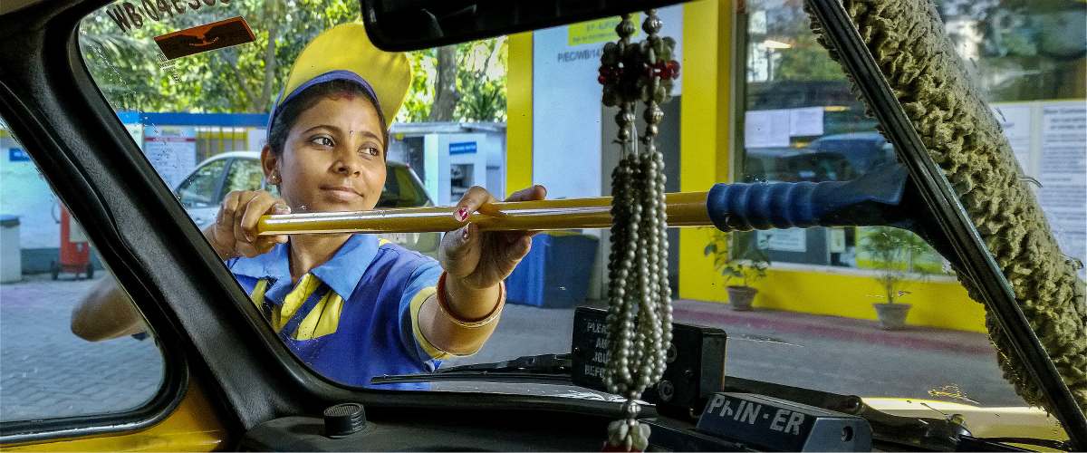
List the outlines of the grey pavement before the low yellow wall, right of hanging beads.
<svg viewBox="0 0 1087 453">
<path fill-rule="evenodd" d="M 728 335 L 725 373 L 861 397 L 950 401 L 984 406 L 1025 403 L 997 366 L 985 334 L 779 310 L 732 311 L 728 304 L 678 300 L 680 323 Z"/>
</svg>

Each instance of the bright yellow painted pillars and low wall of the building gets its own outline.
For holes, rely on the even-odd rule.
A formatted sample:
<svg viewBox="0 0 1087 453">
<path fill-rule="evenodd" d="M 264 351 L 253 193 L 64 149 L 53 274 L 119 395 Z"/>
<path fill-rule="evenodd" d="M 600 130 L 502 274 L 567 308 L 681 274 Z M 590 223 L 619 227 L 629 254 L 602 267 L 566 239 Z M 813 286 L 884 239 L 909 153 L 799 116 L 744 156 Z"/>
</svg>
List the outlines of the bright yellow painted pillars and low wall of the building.
<svg viewBox="0 0 1087 453">
<path fill-rule="evenodd" d="M 735 159 L 732 118 L 735 74 L 732 0 L 698 0 L 684 4 L 683 97 L 680 105 L 680 191 L 704 191 L 730 181 Z M 533 38 L 510 37 L 507 124 L 507 188 L 533 183 Z M 740 102 L 741 100 L 736 100 Z M 724 278 L 702 254 L 709 236 L 699 228 L 679 231 L 679 298 L 727 302 Z M 882 299 L 876 281 L 866 275 L 841 275 L 819 269 L 771 269 L 754 285 L 761 289 L 754 305 L 802 313 L 875 319 L 873 302 Z M 907 323 L 938 328 L 985 331 L 984 309 L 957 281 L 941 279 L 912 285 L 903 302 L 913 304 Z"/>
</svg>

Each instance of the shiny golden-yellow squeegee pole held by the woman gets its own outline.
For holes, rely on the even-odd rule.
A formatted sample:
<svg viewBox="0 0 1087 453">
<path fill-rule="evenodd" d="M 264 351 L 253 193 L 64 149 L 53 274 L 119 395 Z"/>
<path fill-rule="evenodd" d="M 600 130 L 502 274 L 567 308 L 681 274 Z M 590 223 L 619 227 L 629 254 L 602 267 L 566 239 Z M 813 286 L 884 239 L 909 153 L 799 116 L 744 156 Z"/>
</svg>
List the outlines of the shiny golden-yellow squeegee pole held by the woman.
<svg viewBox="0 0 1087 453">
<path fill-rule="evenodd" d="M 709 192 L 677 192 L 665 197 L 669 226 L 710 226 L 705 211 Z M 485 204 L 466 222 L 484 230 L 583 229 L 611 227 L 611 197 L 564 200 L 503 201 Z M 465 222 L 465 223 L 466 223 Z M 453 206 L 403 207 L 358 212 L 278 214 L 262 216 L 261 236 L 312 232 L 452 231 L 464 226 L 453 219 Z"/>
</svg>

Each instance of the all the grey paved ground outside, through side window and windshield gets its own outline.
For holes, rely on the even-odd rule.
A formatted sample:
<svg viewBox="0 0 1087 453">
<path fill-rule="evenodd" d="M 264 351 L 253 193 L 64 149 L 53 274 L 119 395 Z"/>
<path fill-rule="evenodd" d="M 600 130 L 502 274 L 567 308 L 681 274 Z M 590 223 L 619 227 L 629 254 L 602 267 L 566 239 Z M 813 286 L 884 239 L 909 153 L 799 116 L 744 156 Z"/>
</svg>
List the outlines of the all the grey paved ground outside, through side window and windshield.
<svg viewBox="0 0 1087 453">
<path fill-rule="evenodd" d="M 0 420 L 121 411 L 147 401 L 158 389 L 162 362 L 153 341 L 123 338 L 89 343 L 71 334 L 72 306 L 90 285 L 36 277 L 0 286 Z M 680 301 L 676 319 L 726 330 L 730 376 L 867 397 L 1023 404 L 1001 379 L 984 336 L 923 329 L 894 335 L 874 330 L 857 338 L 825 336 L 817 329 L 791 328 L 796 323 L 783 322 L 791 319 L 784 313 L 736 318 L 722 315 L 721 306 Z M 448 361 L 447 366 L 569 352 L 572 319 L 573 310 L 509 304 L 484 349 Z M 911 336 L 919 341 L 899 341 Z M 920 341 L 934 337 L 949 342 Z M 972 344 L 955 347 L 955 342 Z M 948 348 L 934 349 L 940 344 Z M 576 390 L 561 388 L 559 393 Z"/>
</svg>

